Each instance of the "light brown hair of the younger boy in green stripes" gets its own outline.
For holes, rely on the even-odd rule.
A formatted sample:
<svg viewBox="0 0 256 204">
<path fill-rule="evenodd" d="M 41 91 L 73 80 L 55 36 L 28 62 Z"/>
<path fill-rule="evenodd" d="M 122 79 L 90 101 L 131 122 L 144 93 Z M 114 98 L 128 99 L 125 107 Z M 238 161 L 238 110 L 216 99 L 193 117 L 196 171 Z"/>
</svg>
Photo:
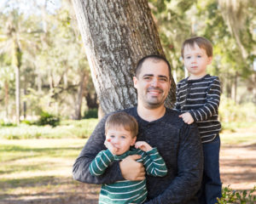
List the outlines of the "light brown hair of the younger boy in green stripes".
<svg viewBox="0 0 256 204">
<path fill-rule="evenodd" d="M 105 133 L 108 132 L 110 127 L 124 127 L 125 130 L 130 131 L 132 137 L 137 136 L 138 133 L 138 124 L 135 117 L 130 116 L 124 111 L 113 113 L 108 116 L 105 123 Z"/>
</svg>

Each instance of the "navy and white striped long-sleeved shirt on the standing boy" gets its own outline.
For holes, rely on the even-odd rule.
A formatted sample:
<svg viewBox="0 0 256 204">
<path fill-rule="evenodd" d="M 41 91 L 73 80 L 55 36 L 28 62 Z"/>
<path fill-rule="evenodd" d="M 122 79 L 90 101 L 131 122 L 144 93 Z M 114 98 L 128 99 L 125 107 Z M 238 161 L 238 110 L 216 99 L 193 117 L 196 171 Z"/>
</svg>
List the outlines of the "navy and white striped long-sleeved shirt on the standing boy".
<svg viewBox="0 0 256 204">
<path fill-rule="evenodd" d="M 215 139 L 221 129 L 218 122 L 220 94 L 218 77 L 206 75 L 195 80 L 185 78 L 177 83 L 174 109 L 191 114 L 198 126 L 202 143 Z"/>
</svg>

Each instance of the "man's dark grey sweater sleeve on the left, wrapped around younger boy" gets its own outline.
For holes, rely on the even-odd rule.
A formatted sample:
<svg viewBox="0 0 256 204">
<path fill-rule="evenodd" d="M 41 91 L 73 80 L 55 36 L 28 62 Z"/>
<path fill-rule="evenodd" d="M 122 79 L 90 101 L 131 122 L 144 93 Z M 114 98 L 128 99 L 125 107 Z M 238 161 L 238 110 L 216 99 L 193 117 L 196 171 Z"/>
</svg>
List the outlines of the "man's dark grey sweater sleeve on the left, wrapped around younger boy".
<svg viewBox="0 0 256 204">
<path fill-rule="evenodd" d="M 73 178 L 88 184 L 112 184 L 118 180 L 124 180 L 119 161 L 113 161 L 109 164 L 105 172 L 100 176 L 90 174 L 90 163 L 96 158 L 101 150 L 106 150 L 105 141 L 105 122 L 107 116 L 104 116 L 90 135 L 90 139 L 84 145 L 79 157 L 73 164 Z"/>
</svg>

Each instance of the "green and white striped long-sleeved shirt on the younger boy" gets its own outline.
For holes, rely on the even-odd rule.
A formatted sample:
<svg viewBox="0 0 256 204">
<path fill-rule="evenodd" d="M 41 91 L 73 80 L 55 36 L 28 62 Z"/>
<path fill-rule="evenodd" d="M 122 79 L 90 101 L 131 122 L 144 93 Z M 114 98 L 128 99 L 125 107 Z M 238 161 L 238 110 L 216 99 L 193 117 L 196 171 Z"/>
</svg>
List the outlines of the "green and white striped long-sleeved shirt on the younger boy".
<svg viewBox="0 0 256 204">
<path fill-rule="evenodd" d="M 90 163 L 90 174 L 93 176 L 102 175 L 112 161 L 120 161 L 126 156 L 141 155 L 137 160 L 143 162 L 148 175 L 163 177 L 167 173 L 166 163 L 158 153 L 156 148 L 145 152 L 143 150 L 131 148 L 121 156 L 113 156 L 110 150 L 102 150 Z M 147 199 L 146 179 L 142 181 L 122 180 L 113 184 L 102 184 L 100 193 L 100 204 L 124 204 L 143 203 Z"/>
</svg>

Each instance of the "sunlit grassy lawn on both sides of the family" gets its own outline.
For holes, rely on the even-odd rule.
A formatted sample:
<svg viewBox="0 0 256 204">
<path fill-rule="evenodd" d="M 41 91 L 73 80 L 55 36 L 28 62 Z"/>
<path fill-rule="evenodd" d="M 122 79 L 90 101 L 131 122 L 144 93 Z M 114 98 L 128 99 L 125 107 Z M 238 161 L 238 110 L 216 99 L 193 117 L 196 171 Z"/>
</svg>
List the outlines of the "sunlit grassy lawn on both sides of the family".
<svg viewBox="0 0 256 204">
<path fill-rule="evenodd" d="M 256 124 L 237 127 L 235 133 L 227 128 L 220 136 L 224 145 L 256 144 Z M 72 178 L 86 140 L 0 137 L 0 203 L 96 203 L 99 187 Z"/>
</svg>

